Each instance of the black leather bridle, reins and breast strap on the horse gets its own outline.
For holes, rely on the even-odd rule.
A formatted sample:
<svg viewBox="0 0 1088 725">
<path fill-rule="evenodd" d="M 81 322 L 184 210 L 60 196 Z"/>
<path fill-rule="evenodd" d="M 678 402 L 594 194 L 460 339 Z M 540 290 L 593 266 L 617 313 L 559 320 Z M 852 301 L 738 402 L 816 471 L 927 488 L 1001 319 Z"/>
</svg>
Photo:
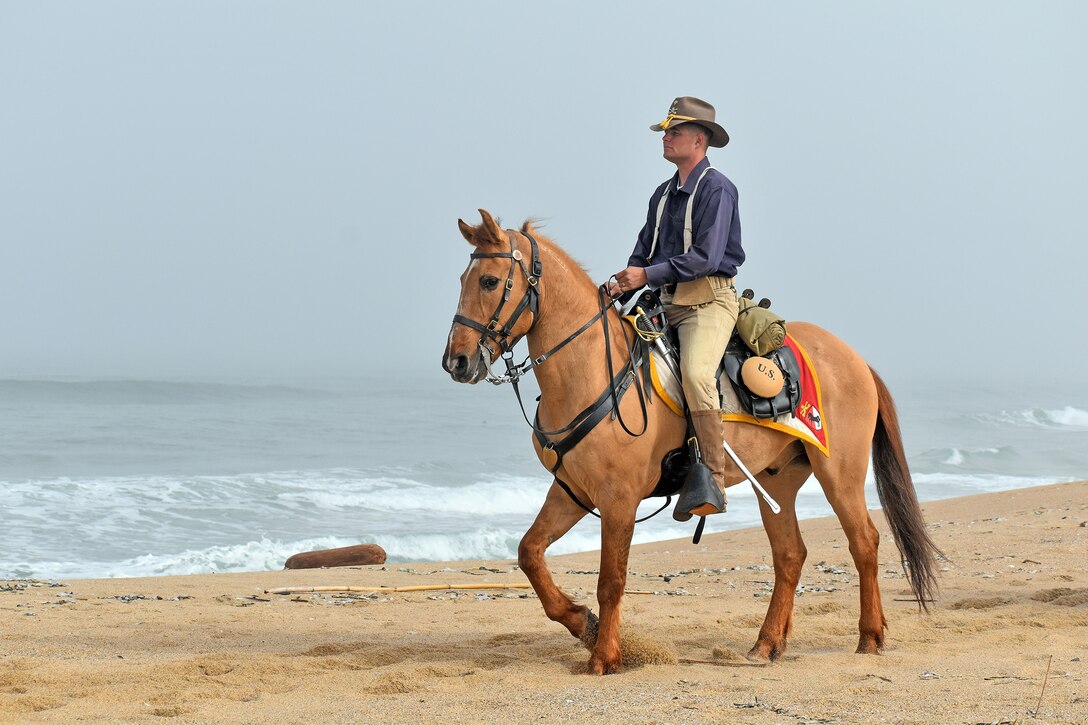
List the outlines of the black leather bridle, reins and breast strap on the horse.
<svg viewBox="0 0 1088 725">
<path fill-rule="evenodd" d="M 515 234 L 520 233 L 526 238 L 529 239 L 531 246 L 531 259 L 529 260 L 529 267 L 526 266 L 524 255 L 518 249 L 514 244 Z M 611 336 L 609 334 L 608 328 L 608 310 L 611 309 L 611 297 L 608 295 L 607 286 L 601 285 L 597 288 L 597 304 L 599 309 L 596 315 L 591 317 L 579 329 L 574 330 L 572 333 L 567 335 L 559 344 L 552 347 L 542 355 L 536 357 L 527 356 L 526 359 L 520 364 L 514 362 L 514 346 L 518 342 L 528 335 L 533 327 L 536 324 L 536 315 L 540 311 L 540 280 L 544 274 L 543 265 L 540 259 L 540 248 L 536 239 L 528 232 L 512 232 L 507 230 L 507 238 L 510 242 L 509 251 L 474 251 L 470 255 L 471 259 L 509 259 L 510 260 L 510 271 L 507 274 L 506 282 L 504 284 L 503 297 L 498 302 L 498 306 L 491 316 L 491 320 L 487 324 L 481 324 L 475 320 L 472 320 L 463 315 L 455 315 L 454 322 L 458 324 L 463 324 L 465 327 L 471 328 L 480 332 L 480 352 L 486 357 L 487 361 L 487 376 L 485 380 L 495 385 L 502 385 L 503 383 L 510 383 L 514 388 L 514 393 L 518 398 L 518 405 L 521 408 L 521 416 L 529 423 L 529 427 L 533 430 L 533 435 L 540 442 L 541 448 L 544 451 L 555 453 L 556 460 L 553 466 L 548 466 L 552 474 L 556 474 L 559 467 L 562 465 L 562 456 L 569 453 L 578 443 L 584 439 L 590 431 L 592 431 L 597 423 L 604 420 L 605 417 L 611 416 L 613 420 L 619 420 L 620 427 L 623 431 L 631 435 L 632 438 L 638 438 L 646 432 L 650 425 L 648 415 L 646 411 L 646 393 L 645 388 L 651 384 L 650 380 L 650 353 L 646 349 L 645 343 L 638 335 L 629 335 L 626 328 L 621 328 L 623 332 L 623 340 L 628 348 L 628 361 L 619 370 L 619 372 L 614 372 L 613 357 L 611 357 Z M 510 314 L 509 319 L 505 323 L 499 320 L 499 315 L 506 307 L 507 303 L 510 300 L 510 293 L 514 290 L 514 279 L 518 268 L 521 268 L 521 272 L 526 277 L 526 294 L 522 296 L 521 300 L 518 302 L 514 311 Z M 511 339 L 511 333 L 514 327 L 517 324 L 521 315 L 526 310 L 529 310 L 533 319 L 529 323 L 529 328 L 526 332 L 517 337 Z M 578 339 L 583 332 L 592 328 L 597 321 L 602 323 L 602 330 L 605 336 L 605 359 L 608 369 L 608 380 L 609 383 L 605 388 L 604 392 L 597 397 L 596 401 L 591 403 L 585 409 L 574 416 L 568 425 L 557 428 L 555 430 L 545 430 L 539 426 L 540 422 L 540 411 L 533 416 L 533 420 L 529 419 L 529 415 L 526 413 L 524 402 L 521 400 L 521 391 L 518 388 L 518 381 L 522 376 L 528 373 L 533 368 L 543 365 L 549 357 L 555 355 L 557 352 L 566 347 L 568 344 Z M 498 347 L 498 356 L 506 362 L 506 374 L 495 376 L 491 371 L 491 366 L 495 360 L 495 352 L 492 349 L 489 342 L 494 343 Z M 639 372 L 642 372 L 640 378 Z M 619 411 L 619 402 L 623 397 L 623 394 L 633 384 L 635 391 L 639 394 L 639 405 L 642 410 L 642 430 L 638 433 L 632 431 L 627 421 L 623 420 L 622 414 Z M 539 398 L 537 398 L 539 400 Z M 562 438 L 558 440 L 552 440 L 554 437 L 561 435 Z M 599 514 L 594 512 L 591 507 L 582 503 L 578 496 L 574 495 L 570 487 L 566 482 L 559 479 L 558 476 L 555 478 L 556 482 L 567 492 L 574 503 L 580 507 L 593 514 L 599 518 Z M 671 502 L 671 496 L 666 499 L 665 505 L 657 509 L 653 514 L 638 519 L 638 521 L 644 521 L 652 516 L 656 516 L 658 513 L 665 509 L 666 506 Z M 638 523 L 636 521 L 636 523 Z"/>
</svg>

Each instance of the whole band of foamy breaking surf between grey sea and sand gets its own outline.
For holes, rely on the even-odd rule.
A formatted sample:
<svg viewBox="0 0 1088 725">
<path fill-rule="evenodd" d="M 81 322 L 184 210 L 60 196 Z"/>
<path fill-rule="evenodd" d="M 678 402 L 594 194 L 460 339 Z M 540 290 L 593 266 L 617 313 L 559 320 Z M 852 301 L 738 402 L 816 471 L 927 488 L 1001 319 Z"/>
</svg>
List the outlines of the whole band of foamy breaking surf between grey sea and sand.
<svg viewBox="0 0 1088 725">
<path fill-rule="evenodd" d="M 1001 456 L 998 448 L 940 448 Z M 393 475 L 396 474 L 396 475 Z M 1073 478 L 976 474 L 963 464 L 919 472 L 922 501 L 1001 491 Z M 277 471 L 245 476 L 61 478 L 0 483 L 9 546 L 0 577 L 135 577 L 282 568 L 293 554 L 356 543 L 383 546 L 391 563 L 510 560 L 543 504 L 545 476 L 481 477 L 477 486 L 443 488 L 408 471 Z M 746 483 L 728 491 L 729 513 L 707 519 L 707 533 L 759 526 L 757 495 Z M 878 505 L 871 474 L 866 497 Z M 645 516 L 664 503 L 640 506 Z M 819 483 L 796 500 L 801 518 L 831 515 Z M 635 527 L 634 543 L 684 539 L 693 524 L 669 511 Z M 596 550 L 601 525 L 586 516 L 549 554 Z M 688 545 L 688 544 L 684 544 Z M 13 552 L 18 560 L 12 558 Z M 7 558 L 5 558 L 7 556 Z"/>
</svg>

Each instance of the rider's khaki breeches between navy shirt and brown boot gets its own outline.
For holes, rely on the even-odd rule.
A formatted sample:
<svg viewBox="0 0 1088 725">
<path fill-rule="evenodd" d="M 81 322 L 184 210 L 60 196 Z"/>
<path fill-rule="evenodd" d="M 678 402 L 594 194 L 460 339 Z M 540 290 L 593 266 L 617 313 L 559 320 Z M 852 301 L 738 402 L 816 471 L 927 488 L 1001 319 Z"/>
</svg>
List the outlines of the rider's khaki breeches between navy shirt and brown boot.
<svg viewBox="0 0 1088 725">
<path fill-rule="evenodd" d="M 724 277 L 709 279 L 715 287 L 715 299 L 706 305 L 672 305 L 671 295 L 662 295 L 665 315 L 680 339 L 680 374 L 683 377 L 683 394 L 692 410 L 721 407 L 718 400 L 718 365 L 737 324 L 737 291 L 732 280 Z"/>
</svg>

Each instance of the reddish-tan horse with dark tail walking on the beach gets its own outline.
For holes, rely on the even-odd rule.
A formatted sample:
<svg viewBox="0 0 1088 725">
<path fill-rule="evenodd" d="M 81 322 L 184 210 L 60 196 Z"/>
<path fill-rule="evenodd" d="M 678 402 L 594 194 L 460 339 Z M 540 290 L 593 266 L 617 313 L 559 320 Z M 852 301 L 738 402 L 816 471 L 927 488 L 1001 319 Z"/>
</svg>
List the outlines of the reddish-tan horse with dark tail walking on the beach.
<svg viewBox="0 0 1088 725">
<path fill-rule="evenodd" d="M 531 358 L 546 357 L 533 366 L 541 391 L 536 426 L 562 429 L 614 380 L 616 370 L 605 360 L 617 369 L 627 362 L 625 323 L 611 307 L 605 308 L 601 320 L 604 306 L 597 285 L 529 222 L 520 231 L 504 231 L 486 211 L 480 213 L 483 221 L 478 226 L 458 220 L 461 234 L 475 249 L 461 274 L 443 368 L 458 382 L 479 382 L 500 354 L 524 337 Z M 585 327 L 593 320 L 601 322 Z M 825 330 L 804 322 L 791 322 L 789 329 L 817 369 L 824 420 L 831 433 L 830 455 L 769 428 L 724 423 L 726 440 L 781 505 L 781 513 L 774 514 L 759 501 L 774 556 L 775 590 L 749 659 L 775 660 L 786 650 L 806 555 L 794 502 L 809 474 L 815 474 L 839 517 L 861 578 L 857 652 L 879 653 L 887 623 L 877 582 L 879 533 L 865 504 L 870 448 L 880 502 L 923 607 L 936 592 L 935 562 L 940 552 L 926 531 L 883 382 L 857 353 Z M 605 416 L 562 457 L 556 471 L 557 480 L 565 481 L 580 501 L 601 512 L 599 620 L 555 586 L 544 562 L 548 545 L 585 515 L 557 482 L 553 481 L 518 548 L 518 561 L 545 613 L 592 651 L 589 671 L 594 674 L 618 672 L 621 666 L 620 602 L 635 509 L 654 491 L 663 456 L 679 447 L 684 435 L 684 420 L 654 400 L 652 390 L 647 393 L 646 405 L 630 393 L 620 398 L 618 417 Z M 745 480 L 735 467 L 726 475 L 734 483 Z"/>
</svg>

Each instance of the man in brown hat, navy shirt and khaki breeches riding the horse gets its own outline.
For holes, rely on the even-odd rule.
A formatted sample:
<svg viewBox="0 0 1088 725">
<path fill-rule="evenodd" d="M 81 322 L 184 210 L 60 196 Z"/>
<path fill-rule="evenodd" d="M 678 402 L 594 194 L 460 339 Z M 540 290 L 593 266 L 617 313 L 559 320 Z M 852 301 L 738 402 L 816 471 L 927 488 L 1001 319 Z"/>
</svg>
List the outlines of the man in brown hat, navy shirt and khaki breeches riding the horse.
<svg viewBox="0 0 1088 725">
<path fill-rule="evenodd" d="M 669 323 L 680 342 L 683 393 L 700 453 L 717 489 L 689 479 L 673 517 L 720 514 L 726 509 L 726 453 L 717 371 L 737 322 L 733 278 L 744 261 L 737 187 L 706 158 L 707 146 L 721 148 L 729 134 L 714 121 L 714 107 L 682 96 L 651 131 L 665 133 L 664 156 L 677 172 L 650 197 L 646 223 L 639 232 L 627 269 L 616 273 L 611 294 L 645 285 L 658 290 Z M 698 482 L 704 486 L 697 487 Z"/>
</svg>

